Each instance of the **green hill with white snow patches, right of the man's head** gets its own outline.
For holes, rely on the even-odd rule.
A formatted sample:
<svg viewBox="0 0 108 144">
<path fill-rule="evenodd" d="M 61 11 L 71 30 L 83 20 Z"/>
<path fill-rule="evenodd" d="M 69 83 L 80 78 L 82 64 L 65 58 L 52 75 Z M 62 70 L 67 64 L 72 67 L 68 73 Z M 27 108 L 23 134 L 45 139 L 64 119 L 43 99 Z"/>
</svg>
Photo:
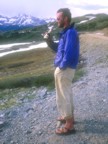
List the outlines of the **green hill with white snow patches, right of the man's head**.
<svg viewBox="0 0 108 144">
<path fill-rule="evenodd" d="M 79 31 L 94 31 L 108 27 L 107 14 L 89 14 L 73 19 Z"/>
</svg>

